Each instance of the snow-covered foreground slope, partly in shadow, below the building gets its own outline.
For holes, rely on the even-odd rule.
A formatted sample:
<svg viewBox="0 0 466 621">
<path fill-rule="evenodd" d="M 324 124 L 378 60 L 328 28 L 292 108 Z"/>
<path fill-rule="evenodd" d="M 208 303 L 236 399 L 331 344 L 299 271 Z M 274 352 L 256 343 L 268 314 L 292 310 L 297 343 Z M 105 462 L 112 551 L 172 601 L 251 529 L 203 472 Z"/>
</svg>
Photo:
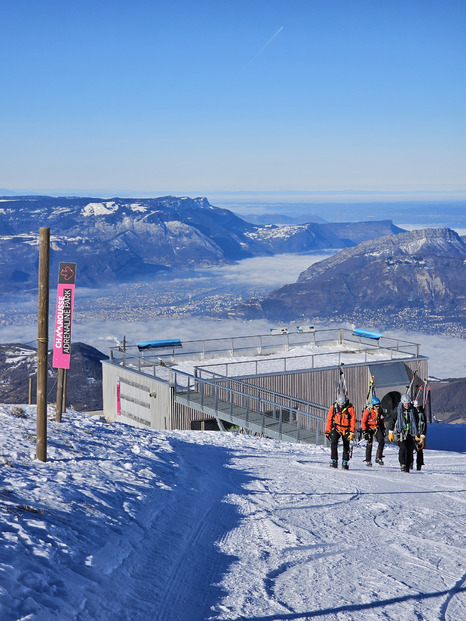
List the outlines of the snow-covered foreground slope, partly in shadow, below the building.
<svg viewBox="0 0 466 621">
<path fill-rule="evenodd" d="M 466 454 L 160 432 L 0 406 L 0 619 L 466 618 Z"/>
</svg>

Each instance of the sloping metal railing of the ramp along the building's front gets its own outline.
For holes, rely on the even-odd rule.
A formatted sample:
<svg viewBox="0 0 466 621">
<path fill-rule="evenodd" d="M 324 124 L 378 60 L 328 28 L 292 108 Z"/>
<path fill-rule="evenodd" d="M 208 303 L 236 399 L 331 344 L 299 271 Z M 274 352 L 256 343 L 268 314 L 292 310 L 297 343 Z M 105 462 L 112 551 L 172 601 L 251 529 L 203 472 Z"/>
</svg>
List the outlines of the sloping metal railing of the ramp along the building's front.
<svg viewBox="0 0 466 621">
<path fill-rule="evenodd" d="M 267 435 L 268 428 L 270 431 L 271 425 L 277 427 L 278 424 L 274 435 L 279 438 L 292 437 L 299 442 L 303 441 L 304 432 L 310 432 L 316 444 L 326 442 L 325 406 L 210 371 L 206 373 L 208 378 L 171 369 L 169 381 L 175 395 L 182 395 L 191 407 L 203 410 L 208 405 L 217 413 L 217 420 L 222 418 L 222 413 L 224 417 L 228 414 L 230 419 L 242 420 L 245 428 L 252 424 L 253 418 L 257 426 L 257 416 L 254 415 L 260 415 L 260 433 L 264 435 Z"/>
</svg>

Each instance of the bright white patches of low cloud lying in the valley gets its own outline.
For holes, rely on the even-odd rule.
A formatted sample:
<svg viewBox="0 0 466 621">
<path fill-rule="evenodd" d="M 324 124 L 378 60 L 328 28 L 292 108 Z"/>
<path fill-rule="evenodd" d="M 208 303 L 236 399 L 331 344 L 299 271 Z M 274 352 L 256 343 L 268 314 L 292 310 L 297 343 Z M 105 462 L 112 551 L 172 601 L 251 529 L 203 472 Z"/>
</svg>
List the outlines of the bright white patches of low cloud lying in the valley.
<svg viewBox="0 0 466 621">
<path fill-rule="evenodd" d="M 335 251 L 319 252 L 311 255 L 283 254 L 274 257 L 260 257 L 246 259 L 234 265 L 227 265 L 209 270 L 194 271 L 187 278 L 174 278 L 173 286 L 186 286 L 190 283 L 198 283 L 204 280 L 206 283 L 218 284 L 227 291 L 229 287 L 258 288 L 260 290 L 272 290 L 286 283 L 295 282 L 299 274 L 309 265 L 321 261 Z M 109 291 L 103 292 L 108 296 Z M 118 296 L 123 295 L 123 290 L 115 289 L 115 303 L 118 304 Z M 80 290 L 79 266 L 78 281 L 75 294 L 75 304 L 79 304 L 79 296 L 91 296 L 95 298 L 100 292 Z M 20 300 L 21 302 L 21 300 Z M 33 305 L 33 299 L 24 301 L 23 304 Z M 50 300 L 50 327 L 49 338 L 53 336 L 53 292 Z M 32 307 L 31 307 L 32 308 Z M 301 322 L 302 323 L 302 322 Z M 309 324 L 314 325 L 312 317 Z M 315 324 L 317 328 L 325 328 L 326 325 Z M 118 346 L 126 339 L 128 344 L 138 341 L 179 338 L 182 341 L 192 341 L 209 338 L 230 338 L 235 336 L 250 336 L 269 334 L 271 328 L 281 327 L 266 319 L 244 321 L 233 319 L 209 319 L 203 317 L 183 316 L 180 318 L 147 319 L 141 316 L 126 321 L 114 321 L 95 319 L 90 314 L 85 320 L 74 321 L 73 342 L 83 342 L 96 347 L 105 354 L 109 354 L 110 348 Z M 294 324 L 289 324 L 290 330 L 295 329 Z M 335 326 L 332 326 L 335 327 Z M 345 325 L 343 327 L 350 327 Z M 373 326 L 357 326 L 359 328 L 372 328 Z M 419 343 L 421 355 L 429 358 L 429 374 L 438 378 L 466 377 L 466 341 L 449 336 L 427 335 L 419 332 L 405 330 L 387 330 L 385 336 Z M 1 343 L 28 343 L 35 344 L 37 339 L 37 326 L 34 323 L 24 324 L 18 322 L 14 325 L 0 325 Z"/>
</svg>

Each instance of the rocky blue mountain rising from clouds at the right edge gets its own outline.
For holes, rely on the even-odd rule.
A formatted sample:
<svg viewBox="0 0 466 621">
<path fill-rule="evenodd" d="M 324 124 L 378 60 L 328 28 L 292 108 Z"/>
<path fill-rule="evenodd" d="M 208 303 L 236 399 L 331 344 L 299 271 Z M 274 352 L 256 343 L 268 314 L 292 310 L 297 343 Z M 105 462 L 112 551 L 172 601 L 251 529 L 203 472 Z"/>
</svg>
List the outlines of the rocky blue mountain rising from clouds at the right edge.
<svg viewBox="0 0 466 621">
<path fill-rule="evenodd" d="M 466 329 L 466 243 L 454 231 L 416 230 L 366 241 L 313 264 L 296 283 L 239 312 L 392 327 Z M 429 325 L 427 325 L 429 324 Z"/>
</svg>

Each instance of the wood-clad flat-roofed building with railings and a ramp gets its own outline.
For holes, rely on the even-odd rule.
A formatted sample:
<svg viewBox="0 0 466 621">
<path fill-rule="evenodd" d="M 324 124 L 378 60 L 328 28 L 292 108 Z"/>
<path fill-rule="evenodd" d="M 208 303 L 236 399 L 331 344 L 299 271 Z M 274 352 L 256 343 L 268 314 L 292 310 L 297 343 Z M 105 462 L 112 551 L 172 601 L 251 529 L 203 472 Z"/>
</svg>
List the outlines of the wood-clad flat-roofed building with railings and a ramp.
<svg viewBox="0 0 466 621">
<path fill-rule="evenodd" d="M 144 341 L 102 361 L 103 415 L 149 429 L 230 429 L 325 444 L 342 377 L 360 421 L 371 379 L 386 417 L 427 379 L 416 343 L 365 330 L 279 328 L 270 334 Z"/>
</svg>

